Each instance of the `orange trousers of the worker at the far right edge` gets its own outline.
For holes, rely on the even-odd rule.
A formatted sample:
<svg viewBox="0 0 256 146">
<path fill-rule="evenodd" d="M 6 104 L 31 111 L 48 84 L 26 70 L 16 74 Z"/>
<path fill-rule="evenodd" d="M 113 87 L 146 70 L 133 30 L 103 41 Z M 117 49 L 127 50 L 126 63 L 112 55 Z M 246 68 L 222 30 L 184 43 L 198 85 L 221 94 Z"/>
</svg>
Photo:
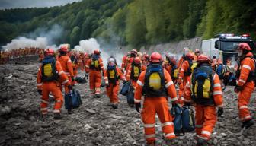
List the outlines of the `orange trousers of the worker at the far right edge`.
<svg viewBox="0 0 256 146">
<path fill-rule="evenodd" d="M 238 110 L 239 118 L 242 122 L 252 119 L 248 104 L 250 103 L 251 94 L 254 91 L 254 82 L 245 83 L 242 90 L 238 93 Z"/>
</svg>

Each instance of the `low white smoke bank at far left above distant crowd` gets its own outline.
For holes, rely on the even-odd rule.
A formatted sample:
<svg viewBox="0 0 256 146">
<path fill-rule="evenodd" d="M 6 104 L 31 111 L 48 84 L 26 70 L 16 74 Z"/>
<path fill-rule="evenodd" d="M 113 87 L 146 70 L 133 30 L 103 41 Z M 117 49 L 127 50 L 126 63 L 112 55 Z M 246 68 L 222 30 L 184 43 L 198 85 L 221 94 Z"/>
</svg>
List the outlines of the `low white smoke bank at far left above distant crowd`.
<svg viewBox="0 0 256 146">
<path fill-rule="evenodd" d="M 22 48 L 46 48 L 48 46 L 46 37 L 37 37 L 35 40 L 29 39 L 27 37 L 18 37 L 18 39 L 11 40 L 6 46 L 2 46 L 6 51 L 11 51 L 12 49 L 22 49 Z"/>
</svg>

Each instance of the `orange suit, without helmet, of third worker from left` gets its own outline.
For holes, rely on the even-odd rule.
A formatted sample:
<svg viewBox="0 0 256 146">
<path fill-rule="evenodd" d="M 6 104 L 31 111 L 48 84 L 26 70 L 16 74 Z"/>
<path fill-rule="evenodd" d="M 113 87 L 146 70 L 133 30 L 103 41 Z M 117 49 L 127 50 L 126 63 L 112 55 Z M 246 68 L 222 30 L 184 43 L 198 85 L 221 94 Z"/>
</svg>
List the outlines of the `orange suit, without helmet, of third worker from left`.
<svg viewBox="0 0 256 146">
<path fill-rule="evenodd" d="M 101 58 L 98 59 L 98 68 L 94 68 L 91 62 L 92 58 L 88 59 L 85 65 L 85 71 L 89 73 L 91 95 L 101 94 L 101 71 L 104 72 L 103 61 Z"/>
</svg>

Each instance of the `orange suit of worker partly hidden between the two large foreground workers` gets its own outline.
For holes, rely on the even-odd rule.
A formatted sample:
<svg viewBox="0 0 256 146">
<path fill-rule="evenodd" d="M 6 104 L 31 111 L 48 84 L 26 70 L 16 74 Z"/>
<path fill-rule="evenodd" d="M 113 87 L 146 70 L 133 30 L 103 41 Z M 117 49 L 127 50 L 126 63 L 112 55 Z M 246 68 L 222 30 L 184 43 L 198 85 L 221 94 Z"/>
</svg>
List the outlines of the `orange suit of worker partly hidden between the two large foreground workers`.
<svg viewBox="0 0 256 146">
<path fill-rule="evenodd" d="M 187 60 L 184 60 L 184 62 L 181 65 L 181 70 L 178 73 L 178 83 L 183 84 L 184 88 L 189 86 L 190 84 L 190 63 Z M 182 105 L 184 100 L 184 92 L 181 94 L 181 97 L 179 97 L 178 101 Z"/>
</svg>

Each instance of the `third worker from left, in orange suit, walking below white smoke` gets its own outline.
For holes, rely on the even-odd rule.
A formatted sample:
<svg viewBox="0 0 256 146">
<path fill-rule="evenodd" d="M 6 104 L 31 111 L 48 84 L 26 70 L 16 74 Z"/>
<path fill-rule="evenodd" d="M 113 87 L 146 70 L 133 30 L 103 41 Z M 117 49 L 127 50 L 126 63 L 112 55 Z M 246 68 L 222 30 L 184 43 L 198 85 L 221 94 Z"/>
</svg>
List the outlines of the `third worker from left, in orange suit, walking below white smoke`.
<svg viewBox="0 0 256 146">
<path fill-rule="evenodd" d="M 91 95 L 101 97 L 101 71 L 104 72 L 103 61 L 99 49 L 95 49 L 91 59 L 85 65 L 86 73 L 89 73 Z"/>
</svg>

